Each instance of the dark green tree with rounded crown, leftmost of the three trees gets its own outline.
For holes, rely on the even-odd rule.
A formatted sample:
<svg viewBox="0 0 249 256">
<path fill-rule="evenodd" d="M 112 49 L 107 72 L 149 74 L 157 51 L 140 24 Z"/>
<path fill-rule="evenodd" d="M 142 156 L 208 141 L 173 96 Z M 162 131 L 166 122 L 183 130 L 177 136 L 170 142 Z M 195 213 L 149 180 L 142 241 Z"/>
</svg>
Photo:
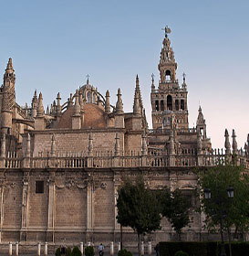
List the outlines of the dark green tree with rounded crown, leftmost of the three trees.
<svg viewBox="0 0 249 256">
<path fill-rule="evenodd" d="M 155 194 L 145 187 L 141 176 L 137 177 L 135 184 L 132 184 L 130 179 L 125 179 L 118 193 L 118 222 L 123 227 L 130 227 L 137 232 L 140 255 L 140 235 L 160 229 L 159 204 Z"/>
</svg>

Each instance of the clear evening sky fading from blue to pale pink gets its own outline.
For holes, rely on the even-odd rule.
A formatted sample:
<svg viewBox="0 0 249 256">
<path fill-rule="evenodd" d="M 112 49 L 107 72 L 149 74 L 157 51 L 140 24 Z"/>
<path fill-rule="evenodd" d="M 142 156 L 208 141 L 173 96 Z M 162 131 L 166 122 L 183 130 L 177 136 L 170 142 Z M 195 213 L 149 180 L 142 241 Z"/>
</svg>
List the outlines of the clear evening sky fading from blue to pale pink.
<svg viewBox="0 0 249 256">
<path fill-rule="evenodd" d="M 45 108 L 89 82 L 132 111 L 135 78 L 151 128 L 151 73 L 158 84 L 164 33 L 171 27 L 177 78 L 186 73 L 190 127 L 199 104 L 213 147 L 224 129 L 238 146 L 249 133 L 249 1 L 0 0 L 0 76 L 8 58 L 16 70 L 16 101 L 42 91 Z M 231 139 L 232 142 L 232 139 Z"/>
</svg>

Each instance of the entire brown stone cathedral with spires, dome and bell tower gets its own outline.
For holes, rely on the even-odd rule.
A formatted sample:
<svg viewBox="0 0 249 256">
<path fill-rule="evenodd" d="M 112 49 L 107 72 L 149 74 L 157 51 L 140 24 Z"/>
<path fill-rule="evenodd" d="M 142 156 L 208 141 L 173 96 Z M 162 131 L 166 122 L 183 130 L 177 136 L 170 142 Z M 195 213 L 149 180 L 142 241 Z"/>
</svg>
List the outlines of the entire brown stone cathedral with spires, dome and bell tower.
<svg viewBox="0 0 249 256">
<path fill-rule="evenodd" d="M 121 91 L 110 103 L 87 83 L 62 102 L 57 93 L 44 109 L 43 96 L 34 94 L 25 107 L 16 102 L 16 75 L 9 59 L 0 91 L 0 242 L 48 243 L 118 241 L 117 191 L 124 176 L 142 174 L 152 189 L 182 189 L 192 205 L 191 226 L 184 240 L 202 240 L 203 216 L 193 208 L 196 166 L 212 166 L 217 157 L 237 155 L 248 168 L 249 137 L 238 150 L 225 133 L 225 151 L 213 150 L 199 108 L 196 126 L 188 123 L 185 76 L 176 78 L 177 63 L 165 31 L 159 62 L 160 80 L 151 80 L 152 129 L 148 128 L 137 76 L 133 112 L 123 111 Z M 171 240 L 166 219 L 153 241 Z M 123 229 L 124 242 L 136 235 Z M 145 240 L 148 238 L 145 238 Z"/>
</svg>

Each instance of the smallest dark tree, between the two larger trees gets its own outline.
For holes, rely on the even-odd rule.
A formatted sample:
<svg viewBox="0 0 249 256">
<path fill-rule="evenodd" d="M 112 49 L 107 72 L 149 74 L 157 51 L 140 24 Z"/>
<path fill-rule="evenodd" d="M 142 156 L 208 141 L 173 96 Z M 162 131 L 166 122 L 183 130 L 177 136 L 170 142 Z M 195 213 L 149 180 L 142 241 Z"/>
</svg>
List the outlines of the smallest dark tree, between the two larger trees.
<svg viewBox="0 0 249 256">
<path fill-rule="evenodd" d="M 190 205 L 186 198 L 182 196 L 180 189 L 171 192 L 169 188 L 165 187 L 160 194 L 161 215 L 171 222 L 171 227 L 181 240 L 182 228 L 190 222 Z"/>
</svg>

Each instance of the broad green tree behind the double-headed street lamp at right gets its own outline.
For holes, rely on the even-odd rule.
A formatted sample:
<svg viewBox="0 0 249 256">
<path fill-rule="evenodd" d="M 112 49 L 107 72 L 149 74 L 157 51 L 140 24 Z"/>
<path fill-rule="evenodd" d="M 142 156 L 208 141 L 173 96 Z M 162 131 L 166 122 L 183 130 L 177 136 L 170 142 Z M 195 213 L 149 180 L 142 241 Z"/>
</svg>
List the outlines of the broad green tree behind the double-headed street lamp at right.
<svg viewBox="0 0 249 256">
<path fill-rule="evenodd" d="M 249 226 L 249 176 L 243 167 L 219 163 L 213 168 L 199 171 L 201 210 L 206 215 L 208 229 L 215 228 L 223 221 L 231 240 L 230 229 L 234 225 L 242 232 Z M 233 187 L 234 197 L 227 196 L 227 188 Z M 205 199 L 204 188 L 209 188 L 211 198 Z"/>
</svg>

